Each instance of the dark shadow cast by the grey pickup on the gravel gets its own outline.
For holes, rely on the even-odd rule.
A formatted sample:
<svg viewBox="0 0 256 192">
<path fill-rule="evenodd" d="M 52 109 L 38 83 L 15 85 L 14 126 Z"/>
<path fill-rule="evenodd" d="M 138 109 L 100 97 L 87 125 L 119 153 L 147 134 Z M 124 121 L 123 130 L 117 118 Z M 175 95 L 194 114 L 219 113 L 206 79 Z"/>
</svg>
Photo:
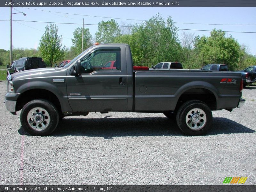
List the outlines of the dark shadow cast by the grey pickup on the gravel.
<svg viewBox="0 0 256 192">
<path fill-rule="evenodd" d="M 230 119 L 215 117 L 213 118 L 212 129 L 203 136 L 254 132 L 254 130 Z M 29 135 L 22 128 L 20 128 L 19 133 Z M 169 120 L 166 117 L 64 118 L 50 136 L 62 137 L 69 135 L 103 137 L 105 139 L 123 136 L 186 136 L 180 131 L 176 121 Z"/>
</svg>

